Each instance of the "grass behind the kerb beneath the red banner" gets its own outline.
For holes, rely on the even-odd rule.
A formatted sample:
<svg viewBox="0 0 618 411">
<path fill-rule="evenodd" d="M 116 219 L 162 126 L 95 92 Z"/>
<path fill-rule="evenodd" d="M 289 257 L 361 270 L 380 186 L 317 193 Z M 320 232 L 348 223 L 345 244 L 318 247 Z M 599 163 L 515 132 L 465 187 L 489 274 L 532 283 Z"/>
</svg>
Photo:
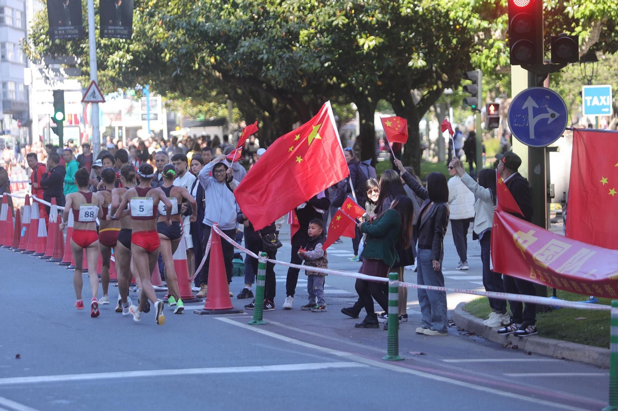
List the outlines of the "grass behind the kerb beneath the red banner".
<svg viewBox="0 0 618 411">
<path fill-rule="evenodd" d="M 558 290 L 557 297 L 568 301 L 584 301 L 586 296 Z M 611 300 L 599 298 L 599 304 L 611 305 Z M 507 307 L 510 309 L 510 307 Z M 478 318 L 487 318 L 491 309 L 486 297 L 464 305 L 464 310 Z M 575 318 L 583 318 L 575 320 Z M 536 315 L 541 337 L 562 339 L 588 346 L 609 348 L 609 311 L 561 308 Z"/>
</svg>

